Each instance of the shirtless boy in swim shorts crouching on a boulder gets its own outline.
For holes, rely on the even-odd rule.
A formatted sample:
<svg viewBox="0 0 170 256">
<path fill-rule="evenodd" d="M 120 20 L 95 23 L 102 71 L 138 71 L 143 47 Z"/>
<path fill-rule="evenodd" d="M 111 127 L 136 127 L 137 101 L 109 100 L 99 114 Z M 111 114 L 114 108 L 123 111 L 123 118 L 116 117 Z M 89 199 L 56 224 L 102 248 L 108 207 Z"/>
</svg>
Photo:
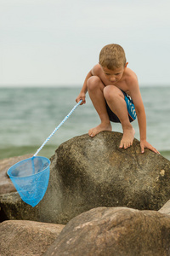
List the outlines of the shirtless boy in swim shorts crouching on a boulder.
<svg viewBox="0 0 170 256">
<path fill-rule="evenodd" d="M 118 44 L 108 44 L 101 49 L 99 64 L 88 73 L 76 102 L 86 103 L 86 93 L 90 96 L 101 123 L 90 129 L 88 134 L 94 137 L 100 131 L 111 131 L 111 121 L 122 124 L 120 148 L 129 148 L 133 144 L 133 119 L 138 118 L 140 147 L 159 153 L 146 141 L 146 116 L 139 91 L 139 82 L 133 71 L 127 67 L 124 49 Z M 135 109 L 134 109 L 135 108 Z"/>
</svg>

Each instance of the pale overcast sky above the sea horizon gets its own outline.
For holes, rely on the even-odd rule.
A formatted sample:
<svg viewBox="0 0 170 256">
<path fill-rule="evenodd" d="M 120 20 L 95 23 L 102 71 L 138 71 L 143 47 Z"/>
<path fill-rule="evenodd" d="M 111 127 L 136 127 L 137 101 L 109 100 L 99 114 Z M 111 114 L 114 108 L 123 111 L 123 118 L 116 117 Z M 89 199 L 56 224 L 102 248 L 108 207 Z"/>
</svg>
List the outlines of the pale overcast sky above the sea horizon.
<svg viewBox="0 0 170 256">
<path fill-rule="evenodd" d="M 0 86 L 81 86 L 105 44 L 170 86 L 169 0 L 0 0 Z"/>
</svg>

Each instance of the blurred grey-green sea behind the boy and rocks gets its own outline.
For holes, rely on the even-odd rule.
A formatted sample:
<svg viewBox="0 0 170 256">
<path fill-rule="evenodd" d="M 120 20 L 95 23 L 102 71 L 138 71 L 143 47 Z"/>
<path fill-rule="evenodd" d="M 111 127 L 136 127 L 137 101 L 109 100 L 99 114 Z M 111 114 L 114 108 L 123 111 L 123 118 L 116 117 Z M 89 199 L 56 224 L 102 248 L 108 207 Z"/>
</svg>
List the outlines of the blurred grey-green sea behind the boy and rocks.
<svg viewBox="0 0 170 256">
<path fill-rule="evenodd" d="M 0 159 L 35 154 L 76 105 L 81 86 L 0 88 Z M 170 86 L 141 86 L 147 116 L 147 141 L 170 160 Z M 55 132 L 38 155 L 50 157 L 61 143 L 88 133 L 99 125 L 99 117 L 87 94 L 79 106 Z M 138 121 L 133 122 L 139 139 Z M 122 132 L 120 124 L 112 130 Z M 83 145 L 82 145 L 83 147 Z"/>
</svg>

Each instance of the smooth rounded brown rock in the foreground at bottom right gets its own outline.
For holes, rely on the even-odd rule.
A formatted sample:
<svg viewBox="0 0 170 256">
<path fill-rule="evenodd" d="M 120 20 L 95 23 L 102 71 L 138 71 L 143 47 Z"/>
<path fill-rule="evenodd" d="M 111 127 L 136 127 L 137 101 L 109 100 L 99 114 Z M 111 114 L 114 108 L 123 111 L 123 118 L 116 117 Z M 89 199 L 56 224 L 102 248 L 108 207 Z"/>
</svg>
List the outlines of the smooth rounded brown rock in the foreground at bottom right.
<svg viewBox="0 0 170 256">
<path fill-rule="evenodd" d="M 99 207 L 66 224 L 44 256 L 170 255 L 170 216 Z"/>
</svg>

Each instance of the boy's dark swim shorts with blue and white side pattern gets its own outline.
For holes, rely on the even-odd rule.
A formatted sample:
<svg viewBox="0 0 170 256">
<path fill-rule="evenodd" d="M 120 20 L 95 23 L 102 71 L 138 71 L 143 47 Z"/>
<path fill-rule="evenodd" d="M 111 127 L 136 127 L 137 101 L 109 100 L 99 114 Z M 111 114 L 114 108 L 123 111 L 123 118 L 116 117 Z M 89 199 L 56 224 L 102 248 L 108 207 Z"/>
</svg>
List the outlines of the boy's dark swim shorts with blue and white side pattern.
<svg viewBox="0 0 170 256">
<path fill-rule="evenodd" d="M 129 121 L 133 122 L 133 120 L 136 119 L 136 111 L 134 108 L 133 100 L 123 90 L 122 90 L 122 93 L 125 96 L 125 102 L 127 103 L 127 113 L 128 113 Z M 116 114 L 111 111 L 111 108 L 109 108 L 109 106 L 107 105 L 107 102 L 106 102 L 106 109 L 111 122 L 121 123 L 118 117 L 116 116 Z"/>
</svg>

